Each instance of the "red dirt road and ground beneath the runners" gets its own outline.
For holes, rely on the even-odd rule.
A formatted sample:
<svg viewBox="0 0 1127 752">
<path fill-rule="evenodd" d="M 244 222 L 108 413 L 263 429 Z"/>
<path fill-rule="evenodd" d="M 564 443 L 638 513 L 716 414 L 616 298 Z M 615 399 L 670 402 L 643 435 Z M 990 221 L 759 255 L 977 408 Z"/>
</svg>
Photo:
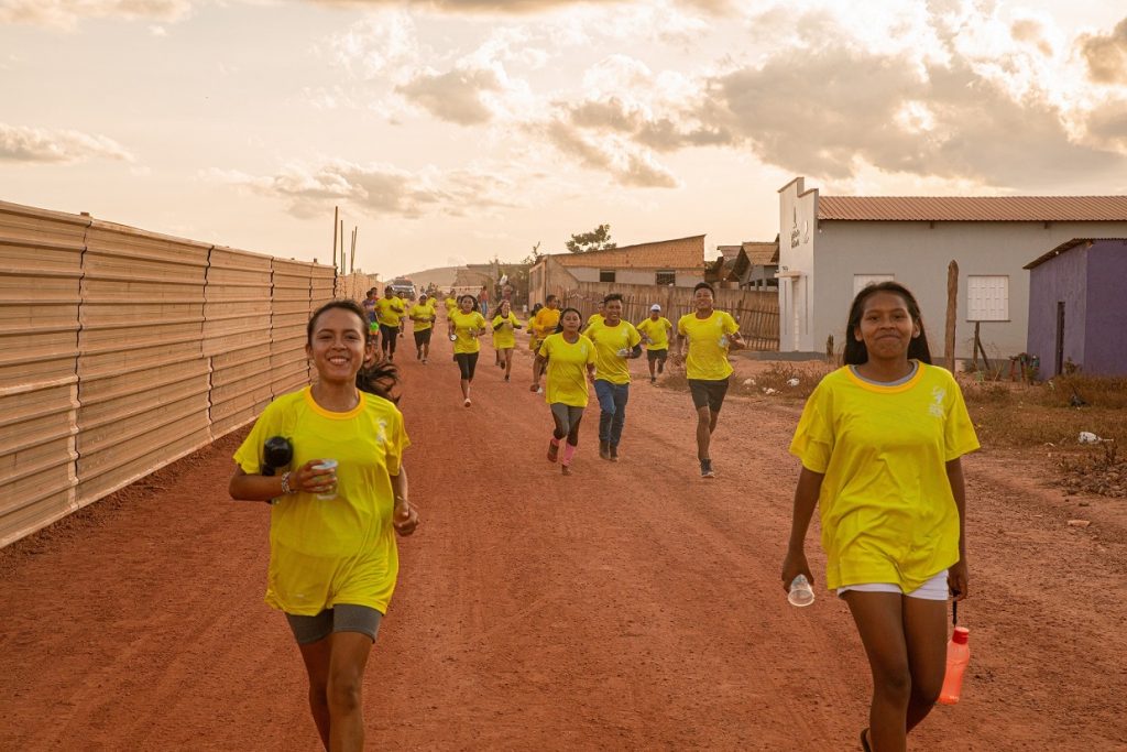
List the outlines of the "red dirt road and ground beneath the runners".
<svg viewBox="0 0 1127 752">
<path fill-rule="evenodd" d="M 858 749 L 849 612 L 779 583 L 796 406 L 730 397 L 706 481 L 687 393 L 639 379 L 622 461 L 598 459 L 593 402 L 564 478 L 527 353 L 506 384 L 483 347 L 467 409 L 436 351 L 400 355 L 423 527 L 369 666 L 371 749 Z M 319 747 L 263 603 L 267 507 L 227 496 L 242 433 L 0 552 L 0 749 Z M 1063 498 L 1019 454 L 966 467 L 974 656 L 912 749 L 1127 747 L 1124 504 Z M 808 551 L 820 578 L 816 530 Z"/>
</svg>

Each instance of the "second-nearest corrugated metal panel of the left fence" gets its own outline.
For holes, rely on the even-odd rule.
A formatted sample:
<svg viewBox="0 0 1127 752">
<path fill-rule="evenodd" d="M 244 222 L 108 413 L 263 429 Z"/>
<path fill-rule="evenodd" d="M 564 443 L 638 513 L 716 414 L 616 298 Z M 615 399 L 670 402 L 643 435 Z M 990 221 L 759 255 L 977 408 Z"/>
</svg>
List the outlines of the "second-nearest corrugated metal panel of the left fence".
<svg viewBox="0 0 1127 752">
<path fill-rule="evenodd" d="M 78 503 L 211 441 L 204 359 L 210 245 L 95 221 L 82 257 Z"/>
</svg>

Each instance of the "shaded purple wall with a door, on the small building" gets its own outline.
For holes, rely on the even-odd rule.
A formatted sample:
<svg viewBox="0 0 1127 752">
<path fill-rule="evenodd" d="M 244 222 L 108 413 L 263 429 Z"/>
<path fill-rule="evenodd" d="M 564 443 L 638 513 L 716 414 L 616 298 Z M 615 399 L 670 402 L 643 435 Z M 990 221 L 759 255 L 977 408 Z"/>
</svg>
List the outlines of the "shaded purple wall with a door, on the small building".
<svg viewBox="0 0 1127 752">
<path fill-rule="evenodd" d="M 1084 365 L 1088 250 L 1083 246 L 1029 272 L 1029 334 L 1026 352 L 1041 359 L 1039 378 L 1056 375 L 1057 302 L 1064 301 L 1064 357 Z"/>
</svg>

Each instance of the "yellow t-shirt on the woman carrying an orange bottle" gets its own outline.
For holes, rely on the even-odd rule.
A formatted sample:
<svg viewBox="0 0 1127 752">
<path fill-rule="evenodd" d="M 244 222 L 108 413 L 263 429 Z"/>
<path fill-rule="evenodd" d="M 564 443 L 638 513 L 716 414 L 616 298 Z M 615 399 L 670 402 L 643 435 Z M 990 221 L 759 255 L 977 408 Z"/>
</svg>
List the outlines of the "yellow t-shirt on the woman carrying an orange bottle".
<svg viewBox="0 0 1127 752">
<path fill-rule="evenodd" d="M 790 452 L 825 476 L 818 507 L 826 586 L 895 583 L 911 592 L 959 560 L 946 462 L 978 449 L 962 392 L 941 368 L 869 383 L 849 366 L 806 401 Z"/>
</svg>

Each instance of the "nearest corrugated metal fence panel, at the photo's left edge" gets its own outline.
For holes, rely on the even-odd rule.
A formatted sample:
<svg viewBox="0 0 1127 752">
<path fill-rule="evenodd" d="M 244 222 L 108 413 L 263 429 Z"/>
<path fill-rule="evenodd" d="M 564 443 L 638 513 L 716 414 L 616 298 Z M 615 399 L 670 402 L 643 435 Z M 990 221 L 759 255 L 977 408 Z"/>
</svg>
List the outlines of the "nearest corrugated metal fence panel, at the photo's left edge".
<svg viewBox="0 0 1127 752">
<path fill-rule="evenodd" d="M 76 508 L 88 218 L 0 202 L 0 547 Z"/>
</svg>

